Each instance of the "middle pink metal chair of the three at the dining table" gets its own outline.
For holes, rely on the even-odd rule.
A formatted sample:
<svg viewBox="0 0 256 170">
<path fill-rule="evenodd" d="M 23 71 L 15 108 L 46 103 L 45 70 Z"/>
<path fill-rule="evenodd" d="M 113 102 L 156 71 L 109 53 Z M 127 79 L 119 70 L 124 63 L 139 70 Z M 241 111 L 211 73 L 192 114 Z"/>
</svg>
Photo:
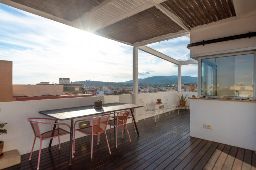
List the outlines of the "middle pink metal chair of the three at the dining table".
<svg viewBox="0 0 256 170">
<path fill-rule="evenodd" d="M 75 152 L 75 131 L 79 131 L 85 135 L 91 135 L 91 160 L 92 160 L 92 151 L 93 151 L 93 136 L 97 135 L 98 136 L 98 144 L 99 144 L 99 135 L 101 133 L 105 133 L 106 135 L 106 129 L 107 129 L 107 124 L 109 121 L 109 115 L 106 116 L 101 116 L 101 117 L 95 117 L 95 118 L 89 118 L 89 119 L 84 119 L 84 120 L 78 120 L 75 122 L 74 127 L 77 122 L 80 121 L 88 121 L 91 120 L 91 126 L 87 126 L 84 128 L 74 128 L 74 143 L 73 143 L 73 153 L 72 156 L 74 157 L 74 152 Z M 109 153 L 111 154 L 111 150 L 109 147 L 107 135 L 106 135 L 106 141 L 107 141 L 107 146 L 109 149 Z"/>
</svg>

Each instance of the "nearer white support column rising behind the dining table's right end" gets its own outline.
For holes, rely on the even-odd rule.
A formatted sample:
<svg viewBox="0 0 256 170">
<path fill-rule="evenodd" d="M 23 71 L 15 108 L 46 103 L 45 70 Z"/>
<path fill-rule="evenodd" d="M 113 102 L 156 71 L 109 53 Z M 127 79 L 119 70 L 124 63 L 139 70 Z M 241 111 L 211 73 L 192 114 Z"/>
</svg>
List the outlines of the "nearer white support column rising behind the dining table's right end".
<svg viewBox="0 0 256 170">
<path fill-rule="evenodd" d="M 138 47 L 133 47 L 133 100 L 132 103 L 136 104 L 138 99 Z M 138 121 L 137 114 L 135 112 L 134 118 Z"/>
</svg>

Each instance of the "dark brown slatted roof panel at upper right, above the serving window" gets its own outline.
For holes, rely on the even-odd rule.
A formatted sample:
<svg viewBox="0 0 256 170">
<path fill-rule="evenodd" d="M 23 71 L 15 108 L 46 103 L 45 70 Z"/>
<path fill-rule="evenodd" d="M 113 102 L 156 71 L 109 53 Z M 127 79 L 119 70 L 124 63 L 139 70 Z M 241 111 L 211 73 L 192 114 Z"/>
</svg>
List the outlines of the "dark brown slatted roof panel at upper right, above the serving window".
<svg viewBox="0 0 256 170">
<path fill-rule="evenodd" d="M 235 16 L 231 0 L 167 0 L 161 5 L 189 29 Z"/>
</svg>

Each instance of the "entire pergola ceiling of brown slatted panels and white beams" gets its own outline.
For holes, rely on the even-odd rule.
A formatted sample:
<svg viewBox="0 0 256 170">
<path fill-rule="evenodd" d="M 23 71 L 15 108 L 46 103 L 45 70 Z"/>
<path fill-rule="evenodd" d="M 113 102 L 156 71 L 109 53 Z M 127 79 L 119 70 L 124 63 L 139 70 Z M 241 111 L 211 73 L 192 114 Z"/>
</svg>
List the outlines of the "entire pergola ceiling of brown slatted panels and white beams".
<svg viewBox="0 0 256 170">
<path fill-rule="evenodd" d="M 3 3 L 20 9 L 25 6 L 34 14 L 129 45 L 189 33 L 194 27 L 235 16 L 231 0 L 5 0 Z"/>
</svg>

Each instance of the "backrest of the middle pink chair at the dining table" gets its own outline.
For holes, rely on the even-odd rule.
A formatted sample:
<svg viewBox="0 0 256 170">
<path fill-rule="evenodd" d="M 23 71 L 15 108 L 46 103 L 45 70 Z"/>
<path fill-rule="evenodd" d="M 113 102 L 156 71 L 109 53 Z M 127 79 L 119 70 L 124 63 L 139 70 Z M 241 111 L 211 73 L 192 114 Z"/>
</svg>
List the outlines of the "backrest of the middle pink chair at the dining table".
<svg viewBox="0 0 256 170">
<path fill-rule="evenodd" d="M 109 115 L 92 118 L 93 133 L 106 132 Z"/>
</svg>

